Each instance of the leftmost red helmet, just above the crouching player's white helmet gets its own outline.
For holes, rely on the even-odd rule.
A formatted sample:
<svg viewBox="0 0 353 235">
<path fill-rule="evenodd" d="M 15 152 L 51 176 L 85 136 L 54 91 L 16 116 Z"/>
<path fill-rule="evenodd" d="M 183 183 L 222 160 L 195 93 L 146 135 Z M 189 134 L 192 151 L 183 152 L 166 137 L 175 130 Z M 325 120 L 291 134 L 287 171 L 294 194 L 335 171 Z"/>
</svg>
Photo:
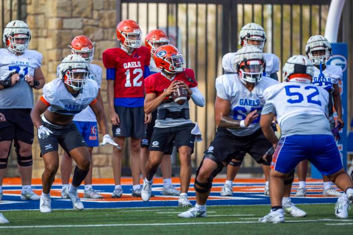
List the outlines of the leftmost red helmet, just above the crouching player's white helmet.
<svg viewBox="0 0 353 235">
<path fill-rule="evenodd" d="M 91 63 L 94 56 L 94 44 L 85 35 L 76 36 L 71 42 L 71 53 L 84 58 L 87 63 Z"/>
</svg>

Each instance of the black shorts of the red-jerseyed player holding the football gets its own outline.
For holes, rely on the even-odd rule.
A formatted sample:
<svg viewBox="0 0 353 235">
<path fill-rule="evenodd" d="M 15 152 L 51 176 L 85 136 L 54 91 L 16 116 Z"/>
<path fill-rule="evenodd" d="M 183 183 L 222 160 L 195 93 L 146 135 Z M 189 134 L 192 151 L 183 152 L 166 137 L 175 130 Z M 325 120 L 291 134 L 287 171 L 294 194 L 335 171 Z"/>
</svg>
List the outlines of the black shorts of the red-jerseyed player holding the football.
<svg viewBox="0 0 353 235">
<path fill-rule="evenodd" d="M 149 150 L 161 151 L 164 154 L 170 155 L 175 145 L 176 150 L 181 146 L 188 146 L 191 148 L 191 153 L 193 153 L 195 135 L 191 134 L 191 130 L 194 127 L 194 123 L 173 127 L 154 127 Z"/>
</svg>

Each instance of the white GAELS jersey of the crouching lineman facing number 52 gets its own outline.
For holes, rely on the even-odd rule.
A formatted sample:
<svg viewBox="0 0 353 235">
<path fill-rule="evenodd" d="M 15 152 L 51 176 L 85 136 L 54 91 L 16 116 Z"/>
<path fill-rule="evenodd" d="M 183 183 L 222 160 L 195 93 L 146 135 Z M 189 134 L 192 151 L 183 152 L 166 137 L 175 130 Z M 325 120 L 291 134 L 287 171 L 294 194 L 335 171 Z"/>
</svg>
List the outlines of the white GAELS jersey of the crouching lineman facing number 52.
<svg viewBox="0 0 353 235">
<path fill-rule="evenodd" d="M 262 95 L 264 90 L 277 83 L 276 80 L 263 76 L 250 92 L 237 74 L 224 74 L 216 78 L 216 90 L 218 97 L 230 103 L 228 117 L 244 120 L 255 109 L 261 111 L 265 104 Z M 228 130 L 235 136 L 248 136 L 260 128 L 259 120 L 260 117 L 256 118 L 247 128 Z"/>
</svg>

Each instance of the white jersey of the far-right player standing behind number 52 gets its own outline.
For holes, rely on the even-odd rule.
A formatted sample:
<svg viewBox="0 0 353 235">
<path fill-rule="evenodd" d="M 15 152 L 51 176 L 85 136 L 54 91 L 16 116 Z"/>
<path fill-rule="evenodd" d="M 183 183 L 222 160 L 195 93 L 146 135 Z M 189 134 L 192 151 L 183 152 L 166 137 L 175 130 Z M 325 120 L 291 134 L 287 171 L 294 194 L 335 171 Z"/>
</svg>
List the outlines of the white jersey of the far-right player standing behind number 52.
<svg viewBox="0 0 353 235">
<path fill-rule="evenodd" d="M 333 89 L 333 84 L 342 81 L 342 68 L 339 66 L 327 65 L 325 70 L 320 74 L 320 70 L 314 67 L 314 77 L 312 83 L 324 88 L 327 91 Z"/>
</svg>

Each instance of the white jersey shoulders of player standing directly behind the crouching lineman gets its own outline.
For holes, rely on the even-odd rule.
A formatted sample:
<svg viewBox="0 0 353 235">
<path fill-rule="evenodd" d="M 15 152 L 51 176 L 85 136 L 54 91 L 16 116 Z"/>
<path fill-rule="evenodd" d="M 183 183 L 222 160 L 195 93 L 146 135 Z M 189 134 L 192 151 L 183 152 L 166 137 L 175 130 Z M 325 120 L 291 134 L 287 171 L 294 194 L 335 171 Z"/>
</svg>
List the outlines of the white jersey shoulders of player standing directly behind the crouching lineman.
<svg viewBox="0 0 353 235">
<path fill-rule="evenodd" d="M 234 64 L 232 60 L 234 54 L 235 52 L 230 52 L 223 56 L 222 66 L 224 71 L 235 73 Z M 266 61 L 265 73 L 267 77 L 270 77 L 272 73 L 279 71 L 279 58 L 277 57 L 277 55 L 271 53 L 263 53 L 263 57 Z"/>
</svg>

